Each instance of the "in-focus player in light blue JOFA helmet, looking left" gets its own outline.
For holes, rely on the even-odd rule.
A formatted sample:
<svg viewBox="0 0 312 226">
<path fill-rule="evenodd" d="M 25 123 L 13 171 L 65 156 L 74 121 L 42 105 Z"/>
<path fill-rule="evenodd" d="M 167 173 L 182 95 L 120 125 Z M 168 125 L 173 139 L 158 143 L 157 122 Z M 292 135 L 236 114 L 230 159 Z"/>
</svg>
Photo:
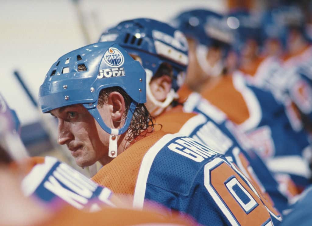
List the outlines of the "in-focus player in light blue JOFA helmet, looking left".
<svg viewBox="0 0 312 226">
<path fill-rule="evenodd" d="M 106 163 L 93 179 L 133 194 L 135 207 L 154 200 L 206 225 L 279 222 L 222 154 L 185 136 L 149 131 L 149 117 L 141 117 L 149 115 L 145 99 L 144 69 L 114 42 L 65 54 L 39 91 L 42 111 L 59 119 L 60 143 L 81 166 Z"/>
</svg>

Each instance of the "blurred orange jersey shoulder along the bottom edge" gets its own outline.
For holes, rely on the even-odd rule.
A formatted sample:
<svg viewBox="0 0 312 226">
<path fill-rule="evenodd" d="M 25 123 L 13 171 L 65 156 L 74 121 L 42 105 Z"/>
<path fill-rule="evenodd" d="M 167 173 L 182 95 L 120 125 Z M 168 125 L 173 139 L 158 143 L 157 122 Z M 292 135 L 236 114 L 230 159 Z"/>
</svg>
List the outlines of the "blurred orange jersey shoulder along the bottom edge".
<svg viewBox="0 0 312 226">
<path fill-rule="evenodd" d="M 1 225 L 1 223 L 0 223 Z M 33 226 L 186 226 L 197 225 L 187 217 L 168 215 L 154 210 L 104 208 L 97 212 L 83 212 L 70 206 L 58 210 L 50 219 Z"/>
</svg>

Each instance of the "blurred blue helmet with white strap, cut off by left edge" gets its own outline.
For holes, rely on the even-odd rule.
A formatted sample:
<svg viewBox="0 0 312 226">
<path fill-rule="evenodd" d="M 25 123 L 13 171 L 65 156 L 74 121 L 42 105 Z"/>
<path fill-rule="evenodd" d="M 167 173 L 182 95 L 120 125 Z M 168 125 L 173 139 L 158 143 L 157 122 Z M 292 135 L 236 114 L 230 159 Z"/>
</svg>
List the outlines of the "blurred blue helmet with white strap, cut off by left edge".
<svg viewBox="0 0 312 226">
<path fill-rule="evenodd" d="M 16 112 L 10 109 L 0 94 L 0 146 L 15 160 L 28 156 L 19 136 L 20 130 L 21 124 Z"/>
</svg>

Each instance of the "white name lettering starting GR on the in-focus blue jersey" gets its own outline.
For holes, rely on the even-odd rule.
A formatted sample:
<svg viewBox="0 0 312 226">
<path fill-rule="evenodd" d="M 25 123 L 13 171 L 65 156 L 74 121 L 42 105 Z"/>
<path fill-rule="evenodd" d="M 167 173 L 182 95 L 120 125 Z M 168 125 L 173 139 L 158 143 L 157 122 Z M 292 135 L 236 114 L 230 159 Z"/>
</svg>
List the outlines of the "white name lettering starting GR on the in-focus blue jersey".
<svg viewBox="0 0 312 226">
<path fill-rule="evenodd" d="M 173 143 L 168 145 L 171 151 L 181 154 L 187 158 L 190 158 L 196 162 L 202 162 L 212 156 L 221 156 L 215 150 L 202 144 L 197 143 L 191 138 L 184 137 L 173 141 Z"/>
</svg>

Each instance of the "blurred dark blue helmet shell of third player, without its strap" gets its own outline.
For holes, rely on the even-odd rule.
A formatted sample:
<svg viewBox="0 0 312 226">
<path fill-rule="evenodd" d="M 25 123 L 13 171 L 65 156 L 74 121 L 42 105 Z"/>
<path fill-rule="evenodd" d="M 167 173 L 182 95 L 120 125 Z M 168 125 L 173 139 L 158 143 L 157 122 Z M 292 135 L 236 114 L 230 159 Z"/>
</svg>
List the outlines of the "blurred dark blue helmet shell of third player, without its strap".
<svg viewBox="0 0 312 226">
<path fill-rule="evenodd" d="M 212 46 L 216 42 L 230 45 L 233 41 L 232 31 L 223 15 L 204 9 L 194 9 L 176 16 L 172 25 L 187 37 L 198 43 Z"/>
</svg>

